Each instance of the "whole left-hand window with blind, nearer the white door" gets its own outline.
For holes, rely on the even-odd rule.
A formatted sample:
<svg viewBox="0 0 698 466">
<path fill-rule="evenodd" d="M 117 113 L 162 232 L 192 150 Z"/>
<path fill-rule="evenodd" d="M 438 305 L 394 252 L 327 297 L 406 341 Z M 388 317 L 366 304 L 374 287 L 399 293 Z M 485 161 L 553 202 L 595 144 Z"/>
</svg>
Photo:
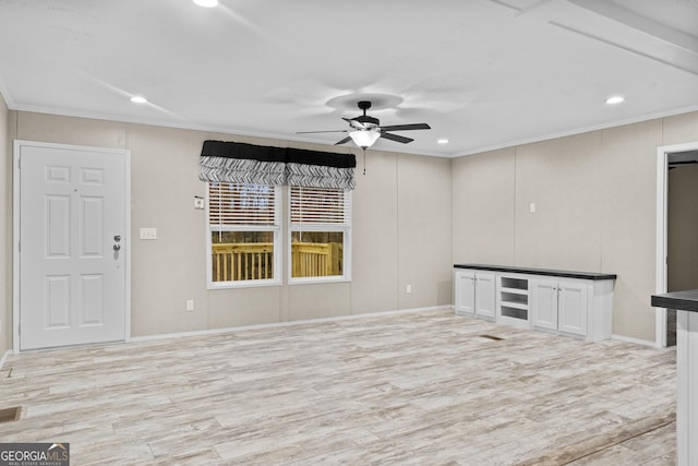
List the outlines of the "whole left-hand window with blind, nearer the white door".
<svg viewBox="0 0 698 466">
<path fill-rule="evenodd" d="M 280 283 L 278 188 L 208 183 L 212 287 Z"/>
</svg>

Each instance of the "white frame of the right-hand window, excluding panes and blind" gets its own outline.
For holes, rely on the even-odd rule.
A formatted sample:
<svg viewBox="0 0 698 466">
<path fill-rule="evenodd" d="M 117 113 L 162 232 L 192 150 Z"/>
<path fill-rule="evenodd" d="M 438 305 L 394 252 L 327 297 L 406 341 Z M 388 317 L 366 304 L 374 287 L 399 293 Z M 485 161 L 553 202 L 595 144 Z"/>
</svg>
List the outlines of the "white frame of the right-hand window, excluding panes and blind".
<svg viewBox="0 0 698 466">
<path fill-rule="evenodd" d="M 344 244 L 342 244 L 342 274 L 341 275 L 325 275 L 320 277 L 293 277 L 293 256 L 292 256 L 292 240 L 293 232 L 299 231 L 298 226 L 294 227 L 294 224 L 291 219 L 291 188 L 288 187 L 286 190 L 286 207 L 288 212 L 288 220 L 286 224 L 288 238 L 286 241 L 286 260 L 287 260 L 287 277 L 289 285 L 301 285 L 301 284 L 321 284 L 321 283 L 341 283 L 341 282 L 351 282 L 351 234 L 352 234 L 352 191 L 350 190 L 341 190 L 344 191 L 344 203 L 345 203 L 345 222 L 342 224 L 338 223 L 312 223 L 312 224 L 303 224 L 302 231 L 327 231 L 342 232 Z M 296 187 L 303 188 L 303 187 Z"/>
</svg>

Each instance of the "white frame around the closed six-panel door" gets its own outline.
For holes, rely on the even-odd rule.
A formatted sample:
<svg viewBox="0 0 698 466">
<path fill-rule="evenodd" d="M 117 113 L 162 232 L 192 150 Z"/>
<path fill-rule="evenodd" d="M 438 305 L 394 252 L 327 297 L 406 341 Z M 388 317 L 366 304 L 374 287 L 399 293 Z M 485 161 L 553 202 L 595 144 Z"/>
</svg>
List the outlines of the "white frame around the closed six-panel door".
<svg viewBox="0 0 698 466">
<path fill-rule="evenodd" d="M 124 232 L 131 234 L 131 151 L 125 148 L 94 147 L 86 145 L 58 144 L 36 141 L 14 140 L 12 155 L 12 351 L 20 354 L 20 212 L 21 171 L 20 152 L 23 146 L 48 147 L 71 151 L 99 152 L 103 154 L 122 155 L 124 157 Z M 131 339 L 131 248 L 133 241 L 127 237 L 124 258 L 124 340 Z"/>
</svg>

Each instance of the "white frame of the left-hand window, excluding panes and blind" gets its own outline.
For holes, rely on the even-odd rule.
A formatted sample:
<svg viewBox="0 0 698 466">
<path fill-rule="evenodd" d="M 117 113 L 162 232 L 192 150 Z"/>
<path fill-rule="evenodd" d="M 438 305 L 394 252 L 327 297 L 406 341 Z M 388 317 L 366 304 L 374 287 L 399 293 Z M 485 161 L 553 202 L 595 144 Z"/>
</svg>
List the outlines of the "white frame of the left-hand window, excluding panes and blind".
<svg viewBox="0 0 698 466">
<path fill-rule="evenodd" d="M 210 224 L 210 184 L 212 183 L 229 183 L 229 181 L 207 181 L 206 182 L 206 287 L 207 289 L 227 289 L 227 288 L 249 288 L 261 286 L 280 286 L 282 284 L 281 277 L 281 258 L 282 258 L 282 240 L 281 240 L 281 224 L 282 224 L 282 205 L 284 196 L 281 187 L 268 186 L 274 189 L 274 225 L 236 225 L 236 226 L 216 226 Z M 258 184 L 258 183 L 234 183 L 231 184 Z M 212 235 L 218 231 L 272 231 L 274 232 L 273 240 L 273 278 L 264 279 L 250 279 L 250 280 L 227 280 L 227 282 L 214 282 L 213 279 L 213 241 Z"/>
</svg>

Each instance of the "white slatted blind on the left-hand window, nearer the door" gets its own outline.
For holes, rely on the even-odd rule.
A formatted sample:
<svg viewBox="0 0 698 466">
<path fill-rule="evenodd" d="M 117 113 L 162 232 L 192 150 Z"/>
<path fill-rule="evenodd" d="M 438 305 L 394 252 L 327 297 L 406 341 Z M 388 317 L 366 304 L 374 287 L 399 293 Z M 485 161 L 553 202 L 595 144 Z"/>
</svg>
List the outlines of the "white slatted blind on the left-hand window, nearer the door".
<svg viewBox="0 0 698 466">
<path fill-rule="evenodd" d="M 274 187 L 208 183 L 208 222 L 214 226 L 275 225 Z"/>
</svg>

